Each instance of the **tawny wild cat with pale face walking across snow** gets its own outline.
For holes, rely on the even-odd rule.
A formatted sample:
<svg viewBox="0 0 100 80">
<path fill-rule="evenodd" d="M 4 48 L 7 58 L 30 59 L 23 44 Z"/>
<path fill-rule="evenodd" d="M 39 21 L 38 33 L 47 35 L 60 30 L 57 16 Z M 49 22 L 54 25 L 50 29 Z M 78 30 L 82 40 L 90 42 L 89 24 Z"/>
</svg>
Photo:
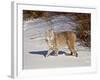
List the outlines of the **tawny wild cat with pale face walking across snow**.
<svg viewBox="0 0 100 80">
<path fill-rule="evenodd" d="M 76 51 L 76 34 L 75 32 L 64 31 L 64 32 L 53 32 L 53 30 L 48 30 L 46 32 L 45 40 L 48 44 L 49 50 L 46 54 L 46 57 L 50 55 L 52 51 L 55 52 L 55 55 L 58 55 L 60 48 L 68 48 L 70 54 L 78 57 Z"/>
</svg>

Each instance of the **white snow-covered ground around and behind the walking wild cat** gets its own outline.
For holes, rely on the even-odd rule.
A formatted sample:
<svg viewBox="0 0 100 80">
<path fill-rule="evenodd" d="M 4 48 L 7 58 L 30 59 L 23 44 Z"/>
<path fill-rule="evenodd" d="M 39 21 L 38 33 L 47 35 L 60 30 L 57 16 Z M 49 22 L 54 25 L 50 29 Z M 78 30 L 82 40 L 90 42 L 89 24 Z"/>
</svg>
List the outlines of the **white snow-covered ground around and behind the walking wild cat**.
<svg viewBox="0 0 100 80">
<path fill-rule="evenodd" d="M 72 17 L 56 16 L 52 18 L 54 31 L 71 31 L 76 24 Z M 66 23 L 67 22 L 67 23 Z M 42 19 L 34 19 L 24 22 L 24 56 L 23 68 L 57 68 L 57 67 L 79 67 L 90 66 L 91 52 L 87 47 L 83 47 L 77 42 L 78 57 L 67 55 L 60 52 L 58 56 L 50 55 L 45 58 L 48 46 L 44 40 L 44 32 L 48 29 L 48 24 Z"/>
</svg>

